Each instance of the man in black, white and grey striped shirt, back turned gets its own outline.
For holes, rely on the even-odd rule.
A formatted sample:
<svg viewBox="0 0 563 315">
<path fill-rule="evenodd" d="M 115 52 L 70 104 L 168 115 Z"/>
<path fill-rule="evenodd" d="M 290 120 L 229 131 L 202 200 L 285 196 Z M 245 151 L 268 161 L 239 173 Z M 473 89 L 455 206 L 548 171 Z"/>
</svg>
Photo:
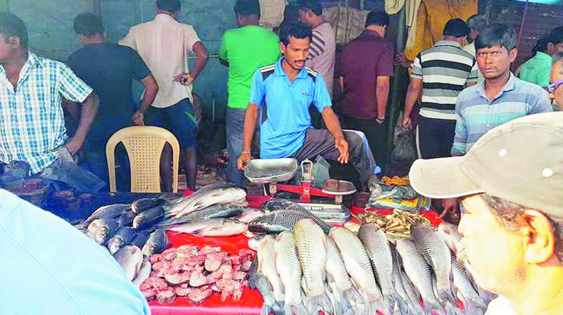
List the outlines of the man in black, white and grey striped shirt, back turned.
<svg viewBox="0 0 563 315">
<path fill-rule="evenodd" d="M 478 78 L 475 58 L 462 49 L 467 44 L 467 24 L 459 18 L 449 20 L 443 34 L 441 41 L 419 53 L 412 63 L 403 117 L 403 126 L 410 127 L 410 114 L 422 91 L 416 136 L 419 158 L 424 159 L 450 156 L 457 95 Z"/>
</svg>

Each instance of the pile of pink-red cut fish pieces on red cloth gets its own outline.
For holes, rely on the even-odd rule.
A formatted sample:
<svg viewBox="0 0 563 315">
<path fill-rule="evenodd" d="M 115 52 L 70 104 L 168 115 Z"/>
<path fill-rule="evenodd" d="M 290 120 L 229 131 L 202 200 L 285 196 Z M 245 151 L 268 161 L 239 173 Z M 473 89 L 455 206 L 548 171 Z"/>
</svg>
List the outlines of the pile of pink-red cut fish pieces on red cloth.
<svg viewBox="0 0 563 315">
<path fill-rule="evenodd" d="M 255 260 L 255 252 L 240 250 L 238 255 L 220 248 L 184 245 L 152 255 L 153 271 L 140 286 L 146 300 L 168 303 L 176 297 L 187 297 L 200 303 L 213 292 L 221 300 L 239 300 L 248 285 L 246 273 Z"/>
</svg>

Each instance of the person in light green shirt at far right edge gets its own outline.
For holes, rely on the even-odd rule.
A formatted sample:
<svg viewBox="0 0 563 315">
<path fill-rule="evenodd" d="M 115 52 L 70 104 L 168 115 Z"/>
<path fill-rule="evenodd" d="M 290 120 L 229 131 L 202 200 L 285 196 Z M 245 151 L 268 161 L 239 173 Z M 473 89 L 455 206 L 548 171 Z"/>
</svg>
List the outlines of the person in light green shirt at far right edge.
<svg viewBox="0 0 563 315">
<path fill-rule="evenodd" d="M 519 77 L 526 82 L 545 88 L 550 85 L 552 56 L 557 51 L 563 51 L 563 27 L 552 30 L 550 36 L 540 39 L 536 46 L 538 46 L 536 56 L 522 65 Z"/>
</svg>

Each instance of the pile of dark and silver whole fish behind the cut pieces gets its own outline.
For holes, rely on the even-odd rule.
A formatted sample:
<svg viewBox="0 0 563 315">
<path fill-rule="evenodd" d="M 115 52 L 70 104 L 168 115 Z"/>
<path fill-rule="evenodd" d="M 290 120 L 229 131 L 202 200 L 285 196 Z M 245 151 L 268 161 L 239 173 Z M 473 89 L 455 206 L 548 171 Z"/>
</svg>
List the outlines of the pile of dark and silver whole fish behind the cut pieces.
<svg viewBox="0 0 563 315">
<path fill-rule="evenodd" d="M 196 236 L 243 233 L 248 221 L 263 214 L 245 208 L 246 191 L 232 184 L 213 184 L 186 198 L 144 198 L 130 205 L 99 207 L 79 227 L 105 246 L 127 278 L 140 285 L 151 274 L 148 257 L 168 247 L 166 231 Z"/>
</svg>

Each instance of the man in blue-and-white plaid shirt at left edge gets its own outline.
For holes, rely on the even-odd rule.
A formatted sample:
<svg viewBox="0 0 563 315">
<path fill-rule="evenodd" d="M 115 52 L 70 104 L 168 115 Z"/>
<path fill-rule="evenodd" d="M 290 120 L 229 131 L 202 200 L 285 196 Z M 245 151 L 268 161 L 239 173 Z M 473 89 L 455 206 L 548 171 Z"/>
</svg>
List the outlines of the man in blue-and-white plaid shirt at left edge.
<svg viewBox="0 0 563 315">
<path fill-rule="evenodd" d="M 65 64 L 27 50 L 20 18 L 0 13 L 0 163 L 27 163 L 34 176 L 78 191 L 98 191 L 101 179 L 72 160 L 96 116 L 99 99 Z M 62 98 L 82 103 L 80 124 L 68 139 Z"/>
</svg>

